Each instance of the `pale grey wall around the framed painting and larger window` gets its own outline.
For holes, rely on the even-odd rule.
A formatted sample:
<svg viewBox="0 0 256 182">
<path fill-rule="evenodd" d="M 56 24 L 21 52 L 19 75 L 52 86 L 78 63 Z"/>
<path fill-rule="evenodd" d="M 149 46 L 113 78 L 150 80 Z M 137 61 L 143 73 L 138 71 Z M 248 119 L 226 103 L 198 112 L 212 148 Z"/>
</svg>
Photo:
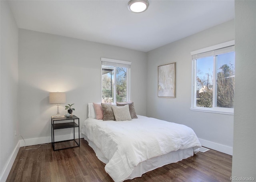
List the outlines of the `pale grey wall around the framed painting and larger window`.
<svg viewBox="0 0 256 182">
<path fill-rule="evenodd" d="M 191 51 L 234 40 L 234 20 L 147 53 L 148 117 L 191 127 L 203 146 L 232 154 L 233 115 L 191 111 Z M 176 98 L 158 98 L 158 65 L 176 62 Z"/>
</svg>

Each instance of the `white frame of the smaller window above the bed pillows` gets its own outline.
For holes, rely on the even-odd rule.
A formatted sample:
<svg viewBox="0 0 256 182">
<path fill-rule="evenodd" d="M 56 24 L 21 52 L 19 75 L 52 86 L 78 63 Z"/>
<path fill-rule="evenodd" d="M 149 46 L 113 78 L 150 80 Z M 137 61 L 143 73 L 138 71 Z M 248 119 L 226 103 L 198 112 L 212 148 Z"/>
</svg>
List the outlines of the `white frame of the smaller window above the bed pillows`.
<svg viewBox="0 0 256 182">
<path fill-rule="evenodd" d="M 101 57 L 101 95 L 102 95 L 102 65 L 114 66 L 114 79 L 113 79 L 113 104 L 116 103 L 116 67 L 126 67 L 126 101 L 130 101 L 130 61 L 122 61 L 117 59 L 109 59 Z M 102 97 L 102 96 L 101 96 Z"/>
</svg>

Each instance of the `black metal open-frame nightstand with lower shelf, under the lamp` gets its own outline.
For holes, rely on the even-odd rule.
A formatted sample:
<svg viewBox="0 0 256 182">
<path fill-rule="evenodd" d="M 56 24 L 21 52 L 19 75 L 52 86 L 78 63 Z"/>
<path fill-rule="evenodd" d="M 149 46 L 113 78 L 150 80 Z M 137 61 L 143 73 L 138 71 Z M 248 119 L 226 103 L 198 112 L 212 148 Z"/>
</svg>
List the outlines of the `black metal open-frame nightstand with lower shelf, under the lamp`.
<svg viewBox="0 0 256 182">
<path fill-rule="evenodd" d="M 76 117 L 75 115 L 73 115 L 70 118 L 54 118 L 54 117 L 52 117 L 51 120 L 52 120 L 52 148 L 54 151 L 80 146 L 80 127 L 79 127 L 79 118 L 78 117 Z M 78 123 L 76 123 L 75 120 Z M 74 139 L 62 140 L 62 141 L 55 142 L 54 141 L 54 131 L 58 130 L 58 129 L 65 129 L 65 128 L 73 128 Z M 78 138 L 77 139 L 75 139 L 75 128 L 78 128 Z M 76 140 L 78 140 L 78 142 Z M 57 145 L 57 149 L 56 149 L 55 145 Z"/>
</svg>

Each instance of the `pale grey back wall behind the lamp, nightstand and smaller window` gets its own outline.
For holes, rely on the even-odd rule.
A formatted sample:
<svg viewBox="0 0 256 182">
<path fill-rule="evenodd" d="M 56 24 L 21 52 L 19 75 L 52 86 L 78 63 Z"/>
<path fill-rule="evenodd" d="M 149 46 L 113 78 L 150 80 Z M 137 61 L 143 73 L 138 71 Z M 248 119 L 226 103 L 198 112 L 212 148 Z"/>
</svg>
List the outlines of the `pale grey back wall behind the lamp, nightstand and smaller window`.
<svg viewBox="0 0 256 182">
<path fill-rule="evenodd" d="M 139 115 L 146 115 L 146 53 L 74 38 L 19 30 L 20 134 L 26 144 L 48 142 L 50 117 L 56 105 L 49 92 L 66 92 L 80 124 L 88 116 L 88 103 L 101 101 L 100 58 L 132 61 L 131 99 Z M 60 104 L 64 115 L 65 104 Z M 71 130 L 56 131 L 65 135 Z M 36 139 L 33 139 L 36 138 Z"/>
</svg>

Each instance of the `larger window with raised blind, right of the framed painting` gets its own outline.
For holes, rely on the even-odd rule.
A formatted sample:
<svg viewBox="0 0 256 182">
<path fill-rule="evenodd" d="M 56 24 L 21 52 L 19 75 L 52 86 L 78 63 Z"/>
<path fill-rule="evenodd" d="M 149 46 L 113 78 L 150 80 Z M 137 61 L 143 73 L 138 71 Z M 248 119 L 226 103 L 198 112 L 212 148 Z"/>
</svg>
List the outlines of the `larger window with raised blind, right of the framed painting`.
<svg viewBox="0 0 256 182">
<path fill-rule="evenodd" d="M 191 52 L 192 110 L 233 114 L 234 41 Z"/>
</svg>

